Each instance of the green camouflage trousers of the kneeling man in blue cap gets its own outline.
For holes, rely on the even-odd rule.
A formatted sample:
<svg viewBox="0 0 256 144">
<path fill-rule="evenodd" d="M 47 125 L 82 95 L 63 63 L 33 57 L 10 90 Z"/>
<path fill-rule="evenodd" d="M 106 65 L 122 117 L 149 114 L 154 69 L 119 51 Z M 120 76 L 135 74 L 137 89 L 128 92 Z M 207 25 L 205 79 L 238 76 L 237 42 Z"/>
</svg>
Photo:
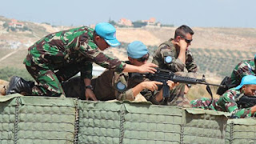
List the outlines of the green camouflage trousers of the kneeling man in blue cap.
<svg viewBox="0 0 256 144">
<path fill-rule="evenodd" d="M 80 67 L 74 64 L 63 67 L 56 73 L 54 70 L 47 70 L 39 66 L 26 66 L 26 70 L 37 82 L 32 87 L 32 95 L 60 97 L 66 96 L 60 80 L 66 81 L 75 74 L 78 74 Z"/>
</svg>

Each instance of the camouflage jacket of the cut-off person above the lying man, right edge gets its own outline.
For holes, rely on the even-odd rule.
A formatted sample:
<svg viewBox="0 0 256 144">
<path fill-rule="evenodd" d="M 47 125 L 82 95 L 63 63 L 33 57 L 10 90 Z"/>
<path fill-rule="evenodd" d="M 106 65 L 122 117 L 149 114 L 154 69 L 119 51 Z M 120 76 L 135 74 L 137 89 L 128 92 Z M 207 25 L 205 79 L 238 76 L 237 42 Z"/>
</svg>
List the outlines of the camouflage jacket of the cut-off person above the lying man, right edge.
<svg viewBox="0 0 256 144">
<path fill-rule="evenodd" d="M 246 75 L 255 75 L 255 63 L 254 59 L 244 60 L 239 62 L 237 66 L 235 66 L 232 74 L 231 74 L 231 84 L 235 84 L 238 86 L 242 80 L 242 77 Z"/>
</svg>

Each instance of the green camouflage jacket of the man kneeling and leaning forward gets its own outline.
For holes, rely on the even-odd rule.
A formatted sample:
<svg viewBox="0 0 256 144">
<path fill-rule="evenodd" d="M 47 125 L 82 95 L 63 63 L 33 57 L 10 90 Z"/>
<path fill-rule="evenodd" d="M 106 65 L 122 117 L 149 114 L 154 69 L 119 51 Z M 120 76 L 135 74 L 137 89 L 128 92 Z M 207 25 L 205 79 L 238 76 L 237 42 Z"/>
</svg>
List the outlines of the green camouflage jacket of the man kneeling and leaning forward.
<svg viewBox="0 0 256 144">
<path fill-rule="evenodd" d="M 40 66 L 59 70 L 82 62 L 85 78 L 91 78 L 92 62 L 110 70 L 122 72 L 125 63 L 109 58 L 99 51 L 94 42 L 94 29 L 86 26 L 49 34 L 28 49 L 24 60 L 26 66 Z"/>
</svg>

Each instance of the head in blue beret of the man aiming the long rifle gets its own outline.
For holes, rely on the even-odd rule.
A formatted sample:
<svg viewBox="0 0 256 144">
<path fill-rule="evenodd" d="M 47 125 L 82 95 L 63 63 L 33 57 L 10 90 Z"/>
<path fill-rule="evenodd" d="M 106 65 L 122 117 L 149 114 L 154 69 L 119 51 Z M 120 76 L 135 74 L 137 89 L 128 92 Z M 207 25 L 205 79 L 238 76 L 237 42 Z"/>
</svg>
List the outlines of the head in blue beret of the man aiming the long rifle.
<svg viewBox="0 0 256 144">
<path fill-rule="evenodd" d="M 130 63 L 134 66 L 142 66 L 150 58 L 149 51 L 140 41 L 131 42 L 127 47 L 127 54 Z"/>
</svg>

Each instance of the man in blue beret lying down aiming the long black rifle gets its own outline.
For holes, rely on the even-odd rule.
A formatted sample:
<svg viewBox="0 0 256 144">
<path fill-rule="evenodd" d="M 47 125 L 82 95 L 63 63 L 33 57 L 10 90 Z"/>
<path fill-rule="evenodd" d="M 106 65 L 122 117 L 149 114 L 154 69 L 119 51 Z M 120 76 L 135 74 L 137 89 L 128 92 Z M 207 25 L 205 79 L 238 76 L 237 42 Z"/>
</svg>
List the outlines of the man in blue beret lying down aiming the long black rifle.
<svg viewBox="0 0 256 144">
<path fill-rule="evenodd" d="M 130 43 L 127 47 L 127 54 L 129 61 L 126 63 L 134 66 L 144 65 L 150 56 L 146 46 L 139 41 Z M 150 82 L 143 78 L 131 77 L 131 75 L 131 73 L 117 73 L 113 70 L 106 70 L 98 78 L 93 78 L 92 87 L 88 88 L 92 89 L 96 98 L 101 101 L 113 99 L 134 101 L 142 93 L 143 96 L 146 94 L 146 100 L 154 104 L 162 102 L 162 90 L 157 92 L 157 85 L 162 85 L 162 82 Z M 83 82 L 79 79 L 79 77 L 71 78 L 68 82 L 62 84 L 66 96 L 88 99 L 83 96 L 84 86 L 81 86 Z M 170 90 L 177 85 L 171 81 L 168 81 L 167 84 L 170 86 Z M 156 91 L 156 93 L 152 94 L 151 91 Z"/>
</svg>

